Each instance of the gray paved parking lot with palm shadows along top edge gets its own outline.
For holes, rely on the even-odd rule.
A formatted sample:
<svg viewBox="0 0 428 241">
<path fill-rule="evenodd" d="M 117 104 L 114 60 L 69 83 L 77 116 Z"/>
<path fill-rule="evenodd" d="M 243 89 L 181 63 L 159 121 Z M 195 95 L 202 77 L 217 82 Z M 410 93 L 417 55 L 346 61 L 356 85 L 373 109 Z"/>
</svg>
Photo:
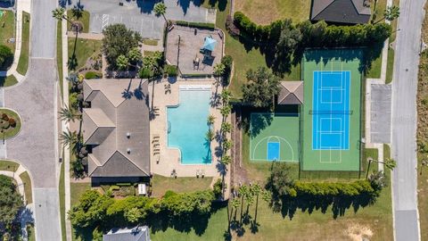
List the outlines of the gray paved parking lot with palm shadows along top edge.
<svg viewBox="0 0 428 241">
<path fill-rule="evenodd" d="M 113 23 L 123 23 L 129 29 L 136 30 L 143 37 L 162 38 L 164 19 L 157 17 L 152 11 L 155 1 L 138 0 L 123 1 L 119 6 L 117 0 L 81 0 L 84 8 L 91 12 L 89 30 L 100 33 L 103 28 Z M 166 0 L 166 18 L 176 21 L 216 21 L 215 12 L 203 8 L 199 0 L 176 1 Z"/>
</svg>

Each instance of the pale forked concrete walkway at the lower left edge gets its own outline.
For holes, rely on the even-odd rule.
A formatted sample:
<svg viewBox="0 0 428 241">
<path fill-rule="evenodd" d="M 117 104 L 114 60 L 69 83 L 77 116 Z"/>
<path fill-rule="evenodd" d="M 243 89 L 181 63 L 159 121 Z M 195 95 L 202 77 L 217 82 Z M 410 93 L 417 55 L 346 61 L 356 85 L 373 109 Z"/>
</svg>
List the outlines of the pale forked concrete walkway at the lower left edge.
<svg viewBox="0 0 428 241">
<path fill-rule="evenodd" d="M 24 183 L 22 182 L 22 179 L 20 175 L 24 173 L 25 168 L 20 165 L 17 170 L 8 171 L 8 170 L 0 170 L 0 175 L 4 175 L 6 177 L 10 177 L 16 181 L 16 186 L 18 187 L 18 191 L 23 196 L 24 204 L 27 204 L 27 196 L 25 195 L 25 189 L 24 189 Z M 25 208 L 23 208 L 19 214 L 19 218 L 21 220 L 21 233 L 22 233 L 22 240 L 27 241 L 29 236 L 27 232 L 27 224 L 33 223 L 33 204 L 27 204 Z"/>
</svg>

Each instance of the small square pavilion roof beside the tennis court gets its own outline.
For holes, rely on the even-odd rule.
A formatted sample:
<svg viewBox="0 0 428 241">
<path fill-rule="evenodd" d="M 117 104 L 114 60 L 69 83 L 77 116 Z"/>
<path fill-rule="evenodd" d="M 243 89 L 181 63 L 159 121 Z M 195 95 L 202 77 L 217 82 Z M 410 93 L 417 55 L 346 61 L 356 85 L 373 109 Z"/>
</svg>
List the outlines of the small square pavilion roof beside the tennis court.
<svg viewBox="0 0 428 241">
<path fill-rule="evenodd" d="M 281 81 L 277 104 L 303 104 L 303 81 Z"/>
</svg>

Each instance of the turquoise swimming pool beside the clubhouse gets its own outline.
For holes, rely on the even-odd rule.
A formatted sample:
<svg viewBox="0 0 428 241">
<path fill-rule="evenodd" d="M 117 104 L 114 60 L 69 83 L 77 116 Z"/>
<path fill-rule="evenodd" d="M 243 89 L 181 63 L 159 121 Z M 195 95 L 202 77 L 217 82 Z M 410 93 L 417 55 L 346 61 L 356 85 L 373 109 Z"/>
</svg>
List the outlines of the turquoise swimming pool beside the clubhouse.
<svg viewBox="0 0 428 241">
<path fill-rule="evenodd" d="M 210 142 L 205 138 L 209 130 L 211 86 L 179 87 L 180 103 L 167 108 L 168 147 L 181 152 L 182 164 L 209 164 Z"/>
</svg>

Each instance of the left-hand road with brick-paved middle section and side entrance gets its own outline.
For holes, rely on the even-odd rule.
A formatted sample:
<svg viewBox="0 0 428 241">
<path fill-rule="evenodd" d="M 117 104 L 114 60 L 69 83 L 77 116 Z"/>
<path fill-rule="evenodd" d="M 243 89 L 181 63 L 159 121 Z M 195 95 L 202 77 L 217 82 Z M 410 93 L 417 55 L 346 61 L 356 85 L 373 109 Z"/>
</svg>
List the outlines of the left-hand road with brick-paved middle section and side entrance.
<svg viewBox="0 0 428 241">
<path fill-rule="evenodd" d="M 7 158 L 21 162 L 32 180 L 37 241 L 62 239 L 58 193 L 56 133 L 57 71 L 56 0 L 33 0 L 29 71 L 14 87 L 4 89 L 4 106 L 21 116 L 21 132 L 6 141 Z"/>
</svg>

